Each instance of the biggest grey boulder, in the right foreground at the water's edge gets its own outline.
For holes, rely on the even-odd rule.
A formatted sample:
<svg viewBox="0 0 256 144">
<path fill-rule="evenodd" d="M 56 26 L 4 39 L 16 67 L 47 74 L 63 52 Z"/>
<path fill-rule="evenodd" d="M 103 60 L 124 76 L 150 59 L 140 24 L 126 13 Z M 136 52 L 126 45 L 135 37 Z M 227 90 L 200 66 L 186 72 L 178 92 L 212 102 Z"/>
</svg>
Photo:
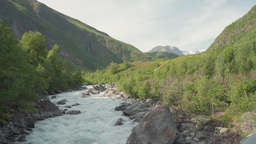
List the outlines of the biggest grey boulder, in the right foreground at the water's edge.
<svg viewBox="0 0 256 144">
<path fill-rule="evenodd" d="M 176 138 L 176 123 L 167 106 L 156 105 L 132 129 L 127 144 L 170 144 Z"/>
</svg>

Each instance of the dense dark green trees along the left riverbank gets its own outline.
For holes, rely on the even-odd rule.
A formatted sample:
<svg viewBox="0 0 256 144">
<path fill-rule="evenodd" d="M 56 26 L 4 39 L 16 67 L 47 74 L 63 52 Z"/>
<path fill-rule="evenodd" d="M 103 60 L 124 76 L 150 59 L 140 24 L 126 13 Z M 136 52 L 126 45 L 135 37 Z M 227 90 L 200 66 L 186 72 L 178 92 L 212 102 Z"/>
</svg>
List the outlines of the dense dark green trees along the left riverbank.
<svg viewBox="0 0 256 144">
<path fill-rule="evenodd" d="M 5 108 L 32 110 L 46 92 L 76 88 L 83 84 L 82 71 L 59 56 L 59 46 L 49 52 L 39 32 L 27 32 L 21 41 L 0 21 L 0 123 L 9 117 Z"/>
</svg>

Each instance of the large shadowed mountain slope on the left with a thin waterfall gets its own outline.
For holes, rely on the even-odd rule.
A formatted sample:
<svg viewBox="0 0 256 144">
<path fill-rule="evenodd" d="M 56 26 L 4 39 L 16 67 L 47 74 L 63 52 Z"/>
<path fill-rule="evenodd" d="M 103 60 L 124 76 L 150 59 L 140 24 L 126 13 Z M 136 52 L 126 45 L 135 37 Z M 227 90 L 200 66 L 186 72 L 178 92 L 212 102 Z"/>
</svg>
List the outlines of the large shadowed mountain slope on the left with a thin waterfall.
<svg viewBox="0 0 256 144">
<path fill-rule="evenodd" d="M 149 61 L 152 57 L 85 23 L 61 14 L 36 0 L 1 0 L 0 19 L 9 23 L 21 39 L 38 31 L 48 49 L 60 45 L 60 55 L 85 69 L 103 69 L 110 62 Z"/>
</svg>

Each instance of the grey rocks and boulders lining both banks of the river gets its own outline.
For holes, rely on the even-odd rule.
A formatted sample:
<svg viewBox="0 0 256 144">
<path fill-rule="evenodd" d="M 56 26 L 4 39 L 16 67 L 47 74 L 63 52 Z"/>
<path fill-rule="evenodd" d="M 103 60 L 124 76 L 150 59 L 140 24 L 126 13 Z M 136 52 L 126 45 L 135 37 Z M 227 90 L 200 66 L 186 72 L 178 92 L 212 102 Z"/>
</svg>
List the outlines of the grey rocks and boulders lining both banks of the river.
<svg viewBox="0 0 256 144">
<path fill-rule="evenodd" d="M 82 90 L 86 87 L 76 90 Z M 68 90 L 72 91 L 72 90 Z M 66 91 L 53 92 L 61 93 Z M 51 94 L 53 94 L 51 93 Z M 239 143 L 242 137 L 234 129 L 224 128 L 223 124 L 217 119 L 203 117 L 194 117 L 189 120 L 173 116 L 171 110 L 156 99 L 139 100 L 132 99 L 124 92 L 120 92 L 114 84 L 95 85 L 88 91 L 83 92 L 80 98 L 87 98 L 93 94 L 103 94 L 104 97 L 114 99 L 123 99 L 120 106 L 115 107 L 115 111 L 122 111 L 123 115 L 137 122 L 138 125 L 133 128 L 127 143 Z M 51 99 L 56 99 L 52 95 Z M 7 125 L 0 125 L 0 143 L 13 143 L 14 141 L 26 141 L 26 135 L 30 134 L 34 123 L 46 118 L 62 115 L 79 115 L 81 112 L 69 110 L 78 103 L 66 105 L 67 100 L 57 100 L 55 105 L 49 99 L 38 101 L 36 109 L 39 111 L 33 113 L 21 113 L 16 107 L 9 107 L 8 113 L 12 116 L 8 119 Z M 59 106 L 65 109 L 59 109 Z M 241 129 L 252 133 L 255 131 L 255 113 L 245 113 L 242 116 L 243 123 Z M 115 127 L 123 125 L 124 121 L 118 118 Z"/>
</svg>

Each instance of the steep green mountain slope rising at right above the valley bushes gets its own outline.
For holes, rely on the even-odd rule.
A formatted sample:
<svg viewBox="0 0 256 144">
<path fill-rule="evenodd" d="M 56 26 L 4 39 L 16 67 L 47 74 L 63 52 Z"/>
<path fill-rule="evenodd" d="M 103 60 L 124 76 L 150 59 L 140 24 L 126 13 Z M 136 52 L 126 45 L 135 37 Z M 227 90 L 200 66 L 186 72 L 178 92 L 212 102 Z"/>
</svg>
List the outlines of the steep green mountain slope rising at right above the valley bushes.
<svg viewBox="0 0 256 144">
<path fill-rule="evenodd" d="M 256 5 L 245 16 L 227 26 L 207 51 L 236 47 L 246 41 L 256 41 Z"/>
</svg>

